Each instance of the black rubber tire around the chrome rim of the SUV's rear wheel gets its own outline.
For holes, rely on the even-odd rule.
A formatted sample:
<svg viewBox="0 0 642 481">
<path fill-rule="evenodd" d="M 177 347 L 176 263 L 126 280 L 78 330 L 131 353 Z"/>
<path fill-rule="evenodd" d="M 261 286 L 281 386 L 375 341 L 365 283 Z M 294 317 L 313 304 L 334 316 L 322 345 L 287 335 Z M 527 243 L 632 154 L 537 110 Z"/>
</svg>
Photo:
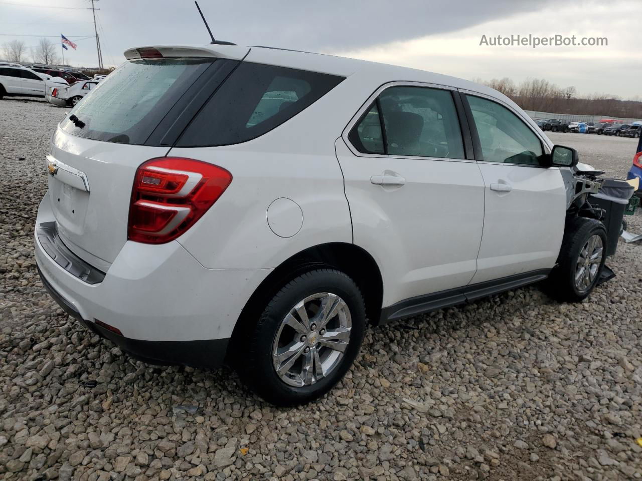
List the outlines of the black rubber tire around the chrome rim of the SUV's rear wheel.
<svg viewBox="0 0 642 481">
<path fill-rule="evenodd" d="M 299 301 L 320 292 L 335 294 L 347 305 L 351 317 L 349 342 L 343 351 L 343 357 L 327 376 L 314 384 L 301 387 L 286 384 L 273 365 L 272 350 L 279 327 Z M 241 381 L 273 405 L 295 406 L 323 396 L 350 369 L 363 341 L 365 304 L 356 283 L 345 273 L 331 268 L 315 268 L 286 283 L 267 303 L 254 325 L 249 321 L 243 327 L 243 339 L 234 340 L 235 350 L 239 351 L 234 364 Z M 295 336 L 298 335 L 292 332 Z M 309 335 L 309 340 L 311 339 L 312 335 Z M 301 362 L 303 358 L 301 356 Z"/>
</svg>

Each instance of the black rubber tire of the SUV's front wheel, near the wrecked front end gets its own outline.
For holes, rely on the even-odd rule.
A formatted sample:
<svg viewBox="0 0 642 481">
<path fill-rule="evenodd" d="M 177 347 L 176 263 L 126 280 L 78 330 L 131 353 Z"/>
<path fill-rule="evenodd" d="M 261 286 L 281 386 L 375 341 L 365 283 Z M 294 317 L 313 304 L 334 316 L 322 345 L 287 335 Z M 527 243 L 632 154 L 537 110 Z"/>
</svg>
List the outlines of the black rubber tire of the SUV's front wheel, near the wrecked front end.
<svg viewBox="0 0 642 481">
<path fill-rule="evenodd" d="M 586 247 L 587 242 L 594 235 L 602 241 L 602 253 L 597 270 L 591 282 L 579 288 L 576 282 L 576 274 L 579 272 L 578 261 L 580 253 Z M 579 302 L 584 300 L 600 279 L 600 273 L 606 259 L 607 233 L 604 225 L 595 219 L 586 217 L 575 217 L 566 223 L 564 228 L 564 239 L 562 248 L 557 258 L 557 266 L 551 272 L 549 278 L 550 292 L 559 301 Z M 585 269 L 587 267 L 584 267 Z M 590 268 L 590 266 L 589 266 Z"/>
</svg>

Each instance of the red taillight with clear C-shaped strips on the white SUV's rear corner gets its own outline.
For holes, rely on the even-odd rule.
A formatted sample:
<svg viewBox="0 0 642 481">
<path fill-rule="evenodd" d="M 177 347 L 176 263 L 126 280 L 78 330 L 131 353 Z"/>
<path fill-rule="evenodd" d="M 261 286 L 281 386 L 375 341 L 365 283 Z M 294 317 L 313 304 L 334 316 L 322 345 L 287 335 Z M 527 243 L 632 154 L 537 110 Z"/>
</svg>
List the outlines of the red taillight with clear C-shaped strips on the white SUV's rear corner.
<svg viewBox="0 0 642 481">
<path fill-rule="evenodd" d="M 134 178 L 127 238 L 146 244 L 176 239 L 214 205 L 231 181 L 227 170 L 200 160 L 148 160 Z"/>
</svg>

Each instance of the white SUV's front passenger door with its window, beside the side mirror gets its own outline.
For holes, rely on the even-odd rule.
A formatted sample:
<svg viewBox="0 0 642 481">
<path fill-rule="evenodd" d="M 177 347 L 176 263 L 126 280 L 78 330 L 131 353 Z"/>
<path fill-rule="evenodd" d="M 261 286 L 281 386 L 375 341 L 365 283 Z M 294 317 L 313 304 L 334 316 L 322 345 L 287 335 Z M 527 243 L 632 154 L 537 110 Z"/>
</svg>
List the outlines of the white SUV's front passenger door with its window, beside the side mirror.
<svg viewBox="0 0 642 481">
<path fill-rule="evenodd" d="M 544 166 L 541 138 L 508 106 L 479 94 L 464 101 L 485 183 L 482 245 L 472 283 L 550 269 L 566 218 L 559 168 Z"/>
</svg>

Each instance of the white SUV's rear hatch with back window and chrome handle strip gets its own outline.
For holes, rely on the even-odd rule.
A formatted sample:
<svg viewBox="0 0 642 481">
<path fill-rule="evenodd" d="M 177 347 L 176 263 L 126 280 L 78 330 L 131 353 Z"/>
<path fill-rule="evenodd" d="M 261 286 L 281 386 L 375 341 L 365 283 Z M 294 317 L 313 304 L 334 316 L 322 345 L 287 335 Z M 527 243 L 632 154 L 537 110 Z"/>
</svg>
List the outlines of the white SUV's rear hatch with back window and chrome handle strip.
<svg viewBox="0 0 642 481">
<path fill-rule="evenodd" d="M 187 56 L 190 52 L 198 56 Z M 159 130 L 176 130 L 176 119 L 194 108 L 190 105 L 199 92 L 193 88 L 203 89 L 204 81 L 221 68 L 217 63 L 232 62 L 217 60 L 216 53 L 205 49 L 183 47 L 180 53 L 180 58 L 129 55 L 53 135 L 49 199 L 58 233 L 76 255 L 103 271 L 127 241 L 137 167 L 171 148 L 171 139 Z"/>
</svg>

